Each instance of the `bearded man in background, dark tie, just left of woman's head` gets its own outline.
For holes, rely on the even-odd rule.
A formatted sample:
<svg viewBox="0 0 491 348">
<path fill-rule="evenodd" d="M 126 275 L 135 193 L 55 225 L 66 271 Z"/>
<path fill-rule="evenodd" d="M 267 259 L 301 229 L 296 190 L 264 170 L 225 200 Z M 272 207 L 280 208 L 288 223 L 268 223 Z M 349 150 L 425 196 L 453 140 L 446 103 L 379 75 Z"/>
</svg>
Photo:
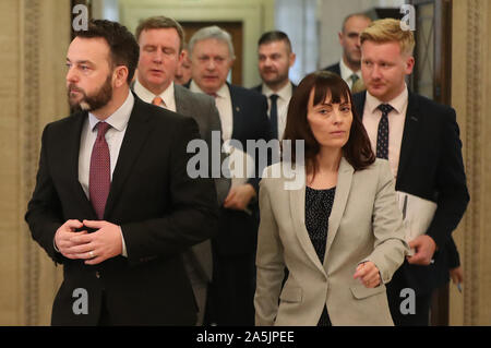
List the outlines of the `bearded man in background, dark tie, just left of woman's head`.
<svg viewBox="0 0 491 348">
<path fill-rule="evenodd" d="M 296 87 L 288 79 L 296 56 L 291 51 L 290 39 L 283 32 L 264 33 L 258 46 L 259 71 L 263 83 L 253 89 L 267 97 L 272 135 L 282 140 L 288 104 Z"/>
</svg>

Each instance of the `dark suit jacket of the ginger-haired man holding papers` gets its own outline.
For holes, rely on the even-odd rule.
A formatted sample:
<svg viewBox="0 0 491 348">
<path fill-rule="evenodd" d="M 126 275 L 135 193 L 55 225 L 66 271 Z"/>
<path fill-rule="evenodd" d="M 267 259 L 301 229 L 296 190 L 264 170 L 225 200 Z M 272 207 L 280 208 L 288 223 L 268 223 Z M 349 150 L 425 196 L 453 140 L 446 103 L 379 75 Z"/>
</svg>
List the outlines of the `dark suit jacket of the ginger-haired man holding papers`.
<svg viewBox="0 0 491 348">
<path fill-rule="evenodd" d="M 354 96 L 360 117 L 366 96 L 366 92 Z M 444 248 L 469 202 L 455 110 L 410 92 L 408 98 L 396 190 L 438 204 L 427 235 L 438 248 Z M 416 291 L 431 291 L 436 286 L 436 274 L 446 267 L 440 252 L 434 259 L 434 264 L 429 266 L 410 265 L 406 261 L 400 272 L 407 285 Z"/>
</svg>

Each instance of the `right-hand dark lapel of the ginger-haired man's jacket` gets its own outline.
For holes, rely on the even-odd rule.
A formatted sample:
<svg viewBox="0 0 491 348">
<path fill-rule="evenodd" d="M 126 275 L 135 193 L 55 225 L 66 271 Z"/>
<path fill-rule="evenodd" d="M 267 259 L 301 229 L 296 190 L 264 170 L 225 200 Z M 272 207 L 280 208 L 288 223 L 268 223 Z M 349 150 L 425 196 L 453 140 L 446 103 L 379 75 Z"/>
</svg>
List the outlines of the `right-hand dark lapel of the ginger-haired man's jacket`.
<svg viewBox="0 0 491 348">
<path fill-rule="evenodd" d="M 406 119 L 404 121 L 403 142 L 400 144 L 399 165 L 397 168 L 397 177 L 404 172 L 407 166 L 408 158 L 410 158 L 411 151 L 415 143 L 418 141 L 418 130 L 422 120 L 418 112 L 418 100 L 415 94 L 409 93 L 408 105 L 406 111 Z"/>
</svg>

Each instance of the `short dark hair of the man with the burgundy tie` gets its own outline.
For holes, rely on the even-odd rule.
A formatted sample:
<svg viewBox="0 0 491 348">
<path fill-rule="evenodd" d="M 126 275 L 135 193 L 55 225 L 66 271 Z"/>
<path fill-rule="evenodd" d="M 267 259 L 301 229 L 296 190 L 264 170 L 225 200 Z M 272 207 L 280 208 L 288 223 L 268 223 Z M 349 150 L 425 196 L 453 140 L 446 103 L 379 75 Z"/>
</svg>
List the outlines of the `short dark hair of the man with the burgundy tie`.
<svg viewBox="0 0 491 348">
<path fill-rule="evenodd" d="M 139 44 L 128 28 L 117 22 L 107 20 L 91 20 L 86 31 L 75 32 L 75 37 L 104 38 L 109 46 L 109 65 L 128 68 L 128 84 L 133 80 L 139 63 Z"/>
</svg>

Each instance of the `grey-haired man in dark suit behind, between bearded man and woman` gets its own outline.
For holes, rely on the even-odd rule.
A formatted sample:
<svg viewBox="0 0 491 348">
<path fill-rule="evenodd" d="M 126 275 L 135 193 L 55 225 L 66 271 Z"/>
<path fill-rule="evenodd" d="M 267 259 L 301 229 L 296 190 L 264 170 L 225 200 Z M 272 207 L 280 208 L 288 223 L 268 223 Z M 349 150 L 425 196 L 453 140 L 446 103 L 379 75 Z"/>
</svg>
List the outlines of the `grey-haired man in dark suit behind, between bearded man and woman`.
<svg viewBox="0 0 491 348">
<path fill-rule="evenodd" d="M 255 247 L 259 227 L 260 168 L 247 141 L 271 140 L 266 98 L 227 83 L 235 60 L 230 35 L 218 26 L 197 31 L 189 41 L 192 92 L 215 97 L 224 142 L 238 141 L 255 158 L 253 178 L 233 184 L 221 206 L 218 236 L 213 239 L 212 301 L 218 325 L 254 324 Z"/>
</svg>

